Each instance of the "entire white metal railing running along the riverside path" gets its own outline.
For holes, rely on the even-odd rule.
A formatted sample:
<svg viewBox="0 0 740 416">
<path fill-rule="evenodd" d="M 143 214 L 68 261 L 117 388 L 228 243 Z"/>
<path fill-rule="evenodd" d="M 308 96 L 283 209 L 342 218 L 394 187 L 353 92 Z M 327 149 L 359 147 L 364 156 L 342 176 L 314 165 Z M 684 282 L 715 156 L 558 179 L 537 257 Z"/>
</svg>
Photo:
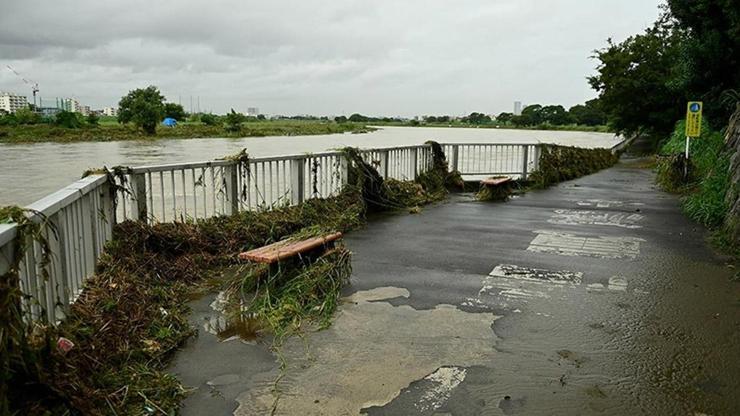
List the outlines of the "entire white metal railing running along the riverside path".
<svg viewBox="0 0 740 416">
<path fill-rule="evenodd" d="M 442 146 L 450 168 L 463 175 L 524 180 L 537 169 L 540 154 L 534 144 Z M 413 180 L 433 165 L 430 145 L 360 155 L 383 178 Z M 54 323 L 65 316 L 95 273 L 116 222 L 190 221 L 330 197 L 347 184 L 349 163 L 342 153 L 327 152 L 119 168 L 114 175 L 81 179 L 27 207 L 42 227 L 40 239 L 26 236 L 23 242 L 19 277 L 26 319 Z M 0 275 L 14 264 L 18 231 L 16 224 L 0 224 Z"/>
</svg>

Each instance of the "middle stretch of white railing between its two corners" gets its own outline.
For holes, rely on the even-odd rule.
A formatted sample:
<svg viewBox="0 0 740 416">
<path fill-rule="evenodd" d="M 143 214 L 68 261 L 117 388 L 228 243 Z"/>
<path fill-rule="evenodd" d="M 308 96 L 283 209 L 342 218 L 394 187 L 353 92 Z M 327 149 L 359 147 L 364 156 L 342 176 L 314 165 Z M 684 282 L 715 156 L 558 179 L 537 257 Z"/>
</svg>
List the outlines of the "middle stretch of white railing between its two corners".
<svg viewBox="0 0 740 416">
<path fill-rule="evenodd" d="M 384 178 L 413 180 L 432 165 L 428 145 L 360 152 Z M 188 221 L 296 205 L 347 184 L 340 152 L 124 168 L 116 175 L 117 221 Z"/>
</svg>

